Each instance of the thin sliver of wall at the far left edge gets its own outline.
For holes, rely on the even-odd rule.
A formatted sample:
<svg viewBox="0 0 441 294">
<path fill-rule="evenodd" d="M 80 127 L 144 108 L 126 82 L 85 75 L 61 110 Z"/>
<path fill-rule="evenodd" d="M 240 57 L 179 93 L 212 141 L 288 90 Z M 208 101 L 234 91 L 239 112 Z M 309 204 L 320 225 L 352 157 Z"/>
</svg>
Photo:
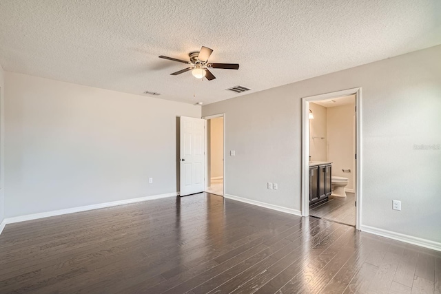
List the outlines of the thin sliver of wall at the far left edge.
<svg viewBox="0 0 441 294">
<path fill-rule="evenodd" d="M 5 101 L 5 72 L 0 65 L 0 223 L 5 218 L 5 195 L 4 187 L 4 101 Z M 0 226 L 1 232 L 1 226 Z"/>
</svg>

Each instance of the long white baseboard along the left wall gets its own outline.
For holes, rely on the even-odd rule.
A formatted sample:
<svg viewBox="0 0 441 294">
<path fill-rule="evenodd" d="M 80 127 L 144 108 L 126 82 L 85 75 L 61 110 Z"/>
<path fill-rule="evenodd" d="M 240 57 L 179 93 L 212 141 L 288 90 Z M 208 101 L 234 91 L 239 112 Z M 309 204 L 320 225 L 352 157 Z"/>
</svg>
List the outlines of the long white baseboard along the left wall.
<svg viewBox="0 0 441 294">
<path fill-rule="evenodd" d="M 118 201 L 112 201 L 112 202 L 104 202 L 99 204 L 92 204 L 92 205 L 86 205 L 82 207 L 72 207 L 68 209 L 60 209 L 60 210 L 54 210 L 54 211 L 47 211 L 47 212 L 41 212 L 41 213 L 33 213 L 28 214 L 25 216 L 15 216 L 13 218 L 5 218 L 3 222 L 0 224 L 0 233 L 3 231 L 3 228 L 6 224 L 13 224 L 15 222 L 25 222 L 26 220 L 37 220 L 39 218 L 48 218 L 50 216 L 61 216 L 63 214 L 68 213 L 75 213 L 75 212 L 81 212 L 81 211 L 88 211 L 93 209 L 101 209 L 105 207 L 114 207 L 118 205 L 123 204 L 130 204 L 135 202 L 143 202 L 147 200 L 154 200 L 154 199 L 161 199 L 161 198 L 167 198 L 167 197 L 173 197 L 176 196 L 177 193 L 165 193 L 165 194 L 159 194 L 159 195 L 153 195 L 153 196 L 145 196 L 140 198 L 132 198 L 132 199 L 125 199 L 125 200 L 118 200 Z"/>
</svg>

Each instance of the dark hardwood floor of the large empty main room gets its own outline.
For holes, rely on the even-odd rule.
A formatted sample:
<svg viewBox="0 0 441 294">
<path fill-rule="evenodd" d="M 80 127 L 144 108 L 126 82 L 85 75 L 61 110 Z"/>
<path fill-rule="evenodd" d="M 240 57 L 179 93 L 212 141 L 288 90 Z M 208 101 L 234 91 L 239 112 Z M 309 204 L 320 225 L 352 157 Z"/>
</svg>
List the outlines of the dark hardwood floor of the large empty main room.
<svg viewBox="0 0 441 294">
<path fill-rule="evenodd" d="M 435 293 L 441 253 L 201 193 L 8 224 L 0 293 Z"/>
</svg>

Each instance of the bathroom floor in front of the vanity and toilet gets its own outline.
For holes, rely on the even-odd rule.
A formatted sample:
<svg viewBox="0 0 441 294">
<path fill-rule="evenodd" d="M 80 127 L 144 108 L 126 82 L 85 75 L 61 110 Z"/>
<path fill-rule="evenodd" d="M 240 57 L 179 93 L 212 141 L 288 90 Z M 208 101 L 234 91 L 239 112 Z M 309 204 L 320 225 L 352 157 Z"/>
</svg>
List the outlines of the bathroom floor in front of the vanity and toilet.
<svg viewBox="0 0 441 294">
<path fill-rule="evenodd" d="M 309 215 L 355 226 L 356 197 L 354 193 L 346 194 L 346 198 L 329 196 L 329 200 L 327 202 L 312 205 L 309 207 Z"/>
</svg>

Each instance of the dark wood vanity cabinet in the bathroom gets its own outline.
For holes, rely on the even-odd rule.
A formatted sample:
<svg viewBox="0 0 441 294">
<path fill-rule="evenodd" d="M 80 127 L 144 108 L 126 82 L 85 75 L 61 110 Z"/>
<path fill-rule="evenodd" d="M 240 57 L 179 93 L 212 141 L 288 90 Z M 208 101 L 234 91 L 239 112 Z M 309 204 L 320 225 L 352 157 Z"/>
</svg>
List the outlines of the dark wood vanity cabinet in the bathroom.
<svg viewBox="0 0 441 294">
<path fill-rule="evenodd" d="M 309 167 L 309 204 L 331 195 L 331 165 Z"/>
</svg>

